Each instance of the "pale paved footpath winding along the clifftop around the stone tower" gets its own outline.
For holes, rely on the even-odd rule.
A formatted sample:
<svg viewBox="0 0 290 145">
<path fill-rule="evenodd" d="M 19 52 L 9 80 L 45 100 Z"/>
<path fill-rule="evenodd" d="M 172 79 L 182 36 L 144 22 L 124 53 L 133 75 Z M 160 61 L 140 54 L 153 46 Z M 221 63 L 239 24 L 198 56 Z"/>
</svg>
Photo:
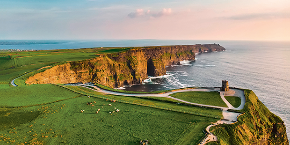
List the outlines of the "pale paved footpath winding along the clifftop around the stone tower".
<svg viewBox="0 0 290 145">
<path fill-rule="evenodd" d="M 104 90 L 104 89 L 100 89 L 94 85 L 87 85 L 87 84 L 82 84 L 82 83 L 77 83 L 77 84 L 66 84 L 66 85 L 73 85 L 73 86 L 81 86 L 81 87 L 85 87 L 87 89 L 91 89 L 88 88 L 87 86 L 90 87 L 94 87 L 95 89 L 91 89 L 97 92 L 101 92 L 101 93 L 106 93 L 106 94 L 113 94 L 113 95 L 119 95 L 119 96 L 135 96 L 135 97 L 166 97 L 166 98 L 171 98 L 180 102 L 184 102 L 184 103 L 188 103 L 188 104 L 193 104 L 193 105 L 199 105 L 199 106 L 206 106 L 206 107 L 214 107 L 214 108 L 220 108 L 222 109 L 222 115 L 224 117 L 225 120 L 220 120 L 217 121 L 215 123 L 213 123 L 212 125 L 209 125 L 206 127 L 206 131 L 209 132 L 209 135 L 207 135 L 205 137 L 205 139 L 203 139 L 200 143 L 200 145 L 203 145 L 205 143 L 211 142 L 211 141 L 217 141 L 217 136 L 213 135 L 209 129 L 212 126 L 218 125 L 218 124 L 231 124 L 237 121 L 237 117 L 238 115 L 240 115 L 239 113 L 235 113 L 235 112 L 229 112 L 227 111 L 228 109 L 232 109 L 232 110 L 241 110 L 244 108 L 245 102 L 246 102 L 246 98 L 244 95 L 244 91 L 240 90 L 240 89 L 231 89 L 232 91 L 234 91 L 234 93 L 231 94 L 226 94 L 227 92 L 225 91 L 220 91 L 220 89 L 184 89 L 184 90 L 178 90 L 178 91 L 173 91 L 173 92 L 168 92 L 168 93 L 163 93 L 163 94 L 130 94 L 130 93 L 119 93 L 119 92 L 113 92 L 113 91 L 108 91 L 108 90 Z M 97 89 L 97 90 L 96 90 Z M 204 105 L 204 104 L 198 104 L 198 103 L 192 103 L 192 102 L 187 102 L 175 97 L 171 97 L 169 96 L 170 94 L 173 93 L 178 93 L 178 92 L 189 92 L 189 91 L 204 91 L 204 92 L 212 92 L 212 91 L 218 91 L 220 92 L 220 96 L 222 97 L 222 100 L 226 103 L 226 105 L 228 107 L 220 107 L 220 106 L 212 106 L 212 105 Z M 240 97 L 241 98 L 241 105 L 238 108 L 234 108 L 225 98 L 226 96 L 235 96 L 235 97 Z"/>
</svg>

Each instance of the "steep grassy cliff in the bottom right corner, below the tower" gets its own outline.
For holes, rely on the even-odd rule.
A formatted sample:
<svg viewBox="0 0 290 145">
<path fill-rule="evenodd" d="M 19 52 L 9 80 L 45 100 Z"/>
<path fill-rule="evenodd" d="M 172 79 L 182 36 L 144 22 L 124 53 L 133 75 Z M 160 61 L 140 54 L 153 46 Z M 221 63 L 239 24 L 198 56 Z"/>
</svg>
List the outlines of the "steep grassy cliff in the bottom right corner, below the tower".
<svg viewBox="0 0 290 145">
<path fill-rule="evenodd" d="M 211 131 L 217 135 L 219 142 L 207 145 L 289 145 L 286 127 L 282 119 L 271 113 L 251 90 L 244 90 L 246 104 L 244 115 L 232 125 L 213 126 Z"/>
</svg>

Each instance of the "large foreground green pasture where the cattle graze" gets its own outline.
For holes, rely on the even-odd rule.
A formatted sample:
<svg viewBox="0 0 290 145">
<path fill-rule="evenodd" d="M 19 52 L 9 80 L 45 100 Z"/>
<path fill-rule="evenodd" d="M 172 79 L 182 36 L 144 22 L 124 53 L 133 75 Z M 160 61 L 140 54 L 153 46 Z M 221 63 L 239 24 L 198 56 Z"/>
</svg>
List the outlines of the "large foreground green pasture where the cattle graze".
<svg viewBox="0 0 290 145">
<path fill-rule="evenodd" d="M 93 102 L 94 106 L 86 105 Z M 105 106 L 103 106 L 105 104 Z M 112 106 L 108 106 L 112 104 Z M 103 108 L 102 108 L 103 107 Z M 109 113 L 116 109 L 120 112 Z M 100 109 L 96 114 L 97 109 Z M 83 113 L 81 113 L 81 110 Z M 47 105 L 0 110 L 0 144 L 197 144 L 217 119 L 77 97 Z M 10 114 L 8 114 L 10 113 Z M 19 121 L 17 118 L 27 114 Z M 29 115 L 28 115 L 29 114 Z M 12 122 L 9 122 L 13 120 Z M 8 126 L 8 127 L 3 127 Z M 5 140 L 5 141 L 4 141 Z"/>
</svg>

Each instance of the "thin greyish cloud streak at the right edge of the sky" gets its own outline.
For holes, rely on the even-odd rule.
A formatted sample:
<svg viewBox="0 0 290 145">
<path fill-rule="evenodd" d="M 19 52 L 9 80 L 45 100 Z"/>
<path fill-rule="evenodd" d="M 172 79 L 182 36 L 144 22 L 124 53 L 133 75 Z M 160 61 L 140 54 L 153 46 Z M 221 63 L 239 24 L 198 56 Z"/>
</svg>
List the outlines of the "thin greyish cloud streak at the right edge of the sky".
<svg viewBox="0 0 290 145">
<path fill-rule="evenodd" d="M 287 13 L 257 13 L 244 14 L 228 17 L 232 20 L 252 20 L 252 19 L 290 19 L 290 14 Z"/>
</svg>

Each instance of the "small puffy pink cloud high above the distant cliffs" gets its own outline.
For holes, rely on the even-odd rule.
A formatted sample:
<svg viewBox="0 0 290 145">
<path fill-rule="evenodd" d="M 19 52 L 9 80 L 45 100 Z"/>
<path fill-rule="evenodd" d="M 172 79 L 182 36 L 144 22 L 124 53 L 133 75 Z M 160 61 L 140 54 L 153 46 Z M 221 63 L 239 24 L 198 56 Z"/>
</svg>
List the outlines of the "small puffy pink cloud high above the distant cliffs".
<svg viewBox="0 0 290 145">
<path fill-rule="evenodd" d="M 162 11 L 155 13 L 151 12 L 150 10 L 147 10 L 146 12 L 143 9 L 136 9 L 135 12 L 131 12 L 128 14 L 128 17 L 130 18 L 138 18 L 138 17 L 150 17 L 150 18 L 158 18 L 162 16 L 167 16 L 172 13 L 171 8 L 163 9 Z"/>
</svg>

